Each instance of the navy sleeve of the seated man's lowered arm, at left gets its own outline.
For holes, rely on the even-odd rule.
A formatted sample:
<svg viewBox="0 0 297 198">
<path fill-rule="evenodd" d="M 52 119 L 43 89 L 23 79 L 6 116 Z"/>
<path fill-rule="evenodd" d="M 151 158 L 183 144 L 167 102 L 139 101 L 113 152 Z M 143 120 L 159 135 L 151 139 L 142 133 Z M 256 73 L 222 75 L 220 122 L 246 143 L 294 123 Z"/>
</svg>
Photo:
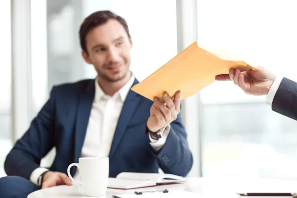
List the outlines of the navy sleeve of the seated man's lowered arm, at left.
<svg viewBox="0 0 297 198">
<path fill-rule="evenodd" d="M 54 88 L 50 99 L 33 119 L 28 131 L 8 153 L 4 168 L 6 174 L 30 178 L 41 159 L 53 148 Z"/>
</svg>

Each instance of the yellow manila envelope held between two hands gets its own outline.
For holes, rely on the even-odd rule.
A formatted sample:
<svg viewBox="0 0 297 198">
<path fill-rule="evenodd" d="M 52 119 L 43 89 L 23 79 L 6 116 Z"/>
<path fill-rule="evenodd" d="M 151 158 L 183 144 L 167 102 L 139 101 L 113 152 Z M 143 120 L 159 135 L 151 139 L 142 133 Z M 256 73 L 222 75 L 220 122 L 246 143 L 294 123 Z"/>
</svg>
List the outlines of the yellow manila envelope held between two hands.
<svg viewBox="0 0 297 198">
<path fill-rule="evenodd" d="M 173 98 L 180 90 L 181 98 L 186 99 L 213 83 L 215 76 L 228 74 L 231 68 L 260 69 L 231 51 L 195 41 L 131 90 L 150 100 L 161 99 L 163 92 Z"/>
</svg>

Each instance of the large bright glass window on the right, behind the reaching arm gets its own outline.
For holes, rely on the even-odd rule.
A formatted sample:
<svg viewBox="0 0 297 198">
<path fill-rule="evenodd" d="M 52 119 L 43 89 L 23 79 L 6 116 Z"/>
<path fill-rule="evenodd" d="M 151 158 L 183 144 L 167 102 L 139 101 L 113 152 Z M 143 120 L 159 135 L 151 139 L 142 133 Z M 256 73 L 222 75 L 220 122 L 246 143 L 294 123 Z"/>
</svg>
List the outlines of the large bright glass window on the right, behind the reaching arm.
<svg viewBox="0 0 297 198">
<path fill-rule="evenodd" d="M 297 79 L 293 1 L 198 0 L 198 41 Z M 203 176 L 297 178 L 297 122 L 232 82 L 200 92 Z"/>
</svg>

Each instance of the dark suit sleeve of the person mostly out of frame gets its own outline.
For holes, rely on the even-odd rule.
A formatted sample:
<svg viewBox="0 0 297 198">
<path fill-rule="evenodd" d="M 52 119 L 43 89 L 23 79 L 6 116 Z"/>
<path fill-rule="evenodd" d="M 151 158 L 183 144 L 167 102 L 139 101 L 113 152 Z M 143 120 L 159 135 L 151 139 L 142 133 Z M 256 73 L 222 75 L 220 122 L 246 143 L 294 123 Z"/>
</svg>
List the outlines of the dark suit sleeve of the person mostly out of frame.
<svg viewBox="0 0 297 198">
<path fill-rule="evenodd" d="M 283 78 L 272 101 L 272 110 L 297 120 L 297 83 Z"/>
</svg>

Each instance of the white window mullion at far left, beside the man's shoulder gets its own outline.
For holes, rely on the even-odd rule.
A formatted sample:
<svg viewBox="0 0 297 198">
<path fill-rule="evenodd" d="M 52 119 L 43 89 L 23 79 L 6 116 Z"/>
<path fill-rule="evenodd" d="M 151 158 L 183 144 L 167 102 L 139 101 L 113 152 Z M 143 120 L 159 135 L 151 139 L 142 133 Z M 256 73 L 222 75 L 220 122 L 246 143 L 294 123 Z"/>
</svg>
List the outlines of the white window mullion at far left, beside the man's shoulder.
<svg viewBox="0 0 297 198">
<path fill-rule="evenodd" d="M 11 0 L 12 140 L 19 139 L 32 117 L 30 0 Z"/>
</svg>

